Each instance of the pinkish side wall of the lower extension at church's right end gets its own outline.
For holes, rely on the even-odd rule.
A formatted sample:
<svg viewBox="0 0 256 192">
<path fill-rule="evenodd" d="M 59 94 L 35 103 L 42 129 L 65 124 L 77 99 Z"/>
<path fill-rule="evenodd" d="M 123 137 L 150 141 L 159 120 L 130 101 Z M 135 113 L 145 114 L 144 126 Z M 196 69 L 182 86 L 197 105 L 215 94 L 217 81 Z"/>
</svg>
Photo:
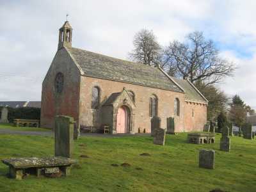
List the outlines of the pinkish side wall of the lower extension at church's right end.
<svg viewBox="0 0 256 192">
<path fill-rule="evenodd" d="M 184 111 L 185 131 L 203 131 L 204 125 L 207 122 L 207 105 L 185 101 Z"/>
</svg>

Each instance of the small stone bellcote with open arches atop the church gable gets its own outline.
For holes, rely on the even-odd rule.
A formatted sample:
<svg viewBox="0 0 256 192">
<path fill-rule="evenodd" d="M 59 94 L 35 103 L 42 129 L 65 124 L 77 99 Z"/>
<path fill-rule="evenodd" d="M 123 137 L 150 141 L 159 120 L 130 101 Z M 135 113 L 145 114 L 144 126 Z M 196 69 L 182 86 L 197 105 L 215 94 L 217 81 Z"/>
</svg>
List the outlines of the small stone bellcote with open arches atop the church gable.
<svg viewBox="0 0 256 192">
<path fill-rule="evenodd" d="M 60 28 L 58 50 L 62 47 L 72 47 L 72 27 L 68 20 Z"/>
</svg>

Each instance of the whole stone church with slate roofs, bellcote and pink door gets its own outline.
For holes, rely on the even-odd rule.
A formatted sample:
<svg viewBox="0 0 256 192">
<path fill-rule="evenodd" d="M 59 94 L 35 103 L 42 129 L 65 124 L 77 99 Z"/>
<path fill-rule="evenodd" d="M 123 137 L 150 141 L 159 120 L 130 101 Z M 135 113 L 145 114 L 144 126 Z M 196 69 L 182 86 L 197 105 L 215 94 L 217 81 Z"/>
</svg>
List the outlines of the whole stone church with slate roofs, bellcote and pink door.
<svg viewBox="0 0 256 192">
<path fill-rule="evenodd" d="M 152 116 L 174 118 L 175 132 L 202 131 L 207 100 L 193 84 L 150 67 L 72 47 L 72 27 L 60 28 L 58 51 L 42 84 L 41 126 L 54 116 L 110 132 L 150 132 Z"/>
</svg>

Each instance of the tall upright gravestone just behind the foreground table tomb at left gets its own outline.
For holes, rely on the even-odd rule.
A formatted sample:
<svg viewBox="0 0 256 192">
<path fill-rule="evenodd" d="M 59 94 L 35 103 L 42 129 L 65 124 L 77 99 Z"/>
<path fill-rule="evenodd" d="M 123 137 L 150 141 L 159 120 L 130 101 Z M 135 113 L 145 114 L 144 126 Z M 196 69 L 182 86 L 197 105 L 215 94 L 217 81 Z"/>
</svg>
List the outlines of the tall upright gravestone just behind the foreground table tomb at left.
<svg viewBox="0 0 256 192">
<path fill-rule="evenodd" d="M 74 118 L 56 116 L 55 118 L 55 156 L 72 157 L 74 145 Z"/>
</svg>

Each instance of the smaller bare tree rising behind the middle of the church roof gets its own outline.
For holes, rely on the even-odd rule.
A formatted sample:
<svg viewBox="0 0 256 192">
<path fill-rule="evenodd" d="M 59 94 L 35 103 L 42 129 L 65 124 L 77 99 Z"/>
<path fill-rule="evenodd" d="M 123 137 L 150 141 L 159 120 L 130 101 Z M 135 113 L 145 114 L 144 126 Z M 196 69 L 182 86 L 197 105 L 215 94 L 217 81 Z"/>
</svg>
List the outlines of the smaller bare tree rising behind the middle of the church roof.
<svg viewBox="0 0 256 192">
<path fill-rule="evenodd" d="M 161 58 L 161 46 L 158 44 L 153 31 L 141 29 L 134 36 L 134 50 L 129 53 L 130 58 L 145 65 L 158 65 Z"/>
</svg>

